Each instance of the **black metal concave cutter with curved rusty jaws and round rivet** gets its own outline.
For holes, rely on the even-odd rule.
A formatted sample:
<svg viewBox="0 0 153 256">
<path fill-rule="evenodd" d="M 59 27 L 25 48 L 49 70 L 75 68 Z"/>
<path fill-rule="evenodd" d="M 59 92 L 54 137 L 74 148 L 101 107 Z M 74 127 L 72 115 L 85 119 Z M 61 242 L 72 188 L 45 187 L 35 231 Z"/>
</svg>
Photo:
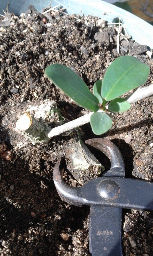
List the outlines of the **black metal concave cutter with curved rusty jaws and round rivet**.
<svg viewBox="0 0 153 256">
<path fill-rule="evenodd" d="M 53 180 L 61 199 L 75 206 L 90 205 L 89 250 L 93 256 L 122 254 L 122 208 L 153 210 L 153 183 L 125 178 L 124 160 L 118 147 L 109 140 L 85 141 L 105 155 L 110 170 L 82 187 L 71 187 L 63 181 L 61 158 L 57 161 Z"/>
</svg>

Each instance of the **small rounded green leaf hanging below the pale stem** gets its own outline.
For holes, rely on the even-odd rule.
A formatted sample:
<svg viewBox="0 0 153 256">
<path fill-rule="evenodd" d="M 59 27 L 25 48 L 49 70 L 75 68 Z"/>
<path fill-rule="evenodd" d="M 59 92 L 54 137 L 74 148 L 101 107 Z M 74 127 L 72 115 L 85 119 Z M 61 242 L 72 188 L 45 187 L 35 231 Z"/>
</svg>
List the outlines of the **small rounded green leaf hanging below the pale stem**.
<svg viewBox="0 0 153 256">
<path fill-rule="evenodd" d="M 100 135 L 107 132 L 112 126 L 112 120 L 106 113 L 96 112 L 90 117 L 90 124 L 94 134 Z"/>
</svg>

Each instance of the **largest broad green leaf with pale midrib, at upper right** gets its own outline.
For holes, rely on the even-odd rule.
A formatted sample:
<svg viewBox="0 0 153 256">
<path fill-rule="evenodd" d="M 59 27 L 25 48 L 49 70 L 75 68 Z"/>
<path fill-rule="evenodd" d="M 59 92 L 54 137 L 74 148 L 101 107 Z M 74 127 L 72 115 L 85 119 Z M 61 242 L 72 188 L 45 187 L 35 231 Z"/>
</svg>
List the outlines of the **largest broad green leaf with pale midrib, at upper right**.
<svg viewBox="0 0 153 256">
<path fill-rule="evenodd" d="M 117 58 L 105 73 L 102 97 L 110 101 L 141 86 L 146 82 L 149 72 L 149 66 L 133 56 Z"/>
</svg>

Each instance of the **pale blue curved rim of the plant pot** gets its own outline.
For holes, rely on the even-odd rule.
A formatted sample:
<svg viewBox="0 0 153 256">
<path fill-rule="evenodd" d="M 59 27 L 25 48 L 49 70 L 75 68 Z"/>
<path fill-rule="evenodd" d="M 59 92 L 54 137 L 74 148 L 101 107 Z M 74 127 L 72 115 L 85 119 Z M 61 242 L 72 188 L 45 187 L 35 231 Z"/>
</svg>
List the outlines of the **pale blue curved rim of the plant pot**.
<svg viewBox="0 0 153 256">
<path fill-rule="evenodd" d="M 7 6 L 7 0 L 1 0 L 0 14 L 3 13 Z M 9 4 L 9 12 L 14 12 L 16 15 L 25 12 L 28 6 L 32 4 L 41 12 L 43 8 L 49 6 L 49 0 L 26 0 L 21 2 L 20 0 L 12 0 Z M 121 17 L 122 22 L 132 38 L 142 44 L 147 45 L 150 49 L 153 48 L 153 26 L 145 22 L 143 19 L 107 2 L 101 0 L 52 0 L 52 6 L 60 4 L 67 9 L 68 14 L 80 14 L 80 15 L 93 15 L 98 16 L 101 19 L 105 19 L 108 22 L 112 22 L 115 18 Z"/>
</svg>

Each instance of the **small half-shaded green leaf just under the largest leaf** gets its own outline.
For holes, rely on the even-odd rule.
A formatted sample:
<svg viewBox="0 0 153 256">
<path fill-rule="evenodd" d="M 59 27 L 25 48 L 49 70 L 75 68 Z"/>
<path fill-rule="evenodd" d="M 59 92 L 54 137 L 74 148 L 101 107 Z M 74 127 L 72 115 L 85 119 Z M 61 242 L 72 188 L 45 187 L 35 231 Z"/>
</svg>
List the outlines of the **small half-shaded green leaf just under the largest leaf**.
<svg viewBox="0 0 153 256">
<path fill-rule="evenodd" d="M 116 98 L 112 100 L 108 105 L 108 109 L 112 112 L 124 112 L 129 110 L 130 107 L 131 104 L 122 98 Z"/>
</svg>

